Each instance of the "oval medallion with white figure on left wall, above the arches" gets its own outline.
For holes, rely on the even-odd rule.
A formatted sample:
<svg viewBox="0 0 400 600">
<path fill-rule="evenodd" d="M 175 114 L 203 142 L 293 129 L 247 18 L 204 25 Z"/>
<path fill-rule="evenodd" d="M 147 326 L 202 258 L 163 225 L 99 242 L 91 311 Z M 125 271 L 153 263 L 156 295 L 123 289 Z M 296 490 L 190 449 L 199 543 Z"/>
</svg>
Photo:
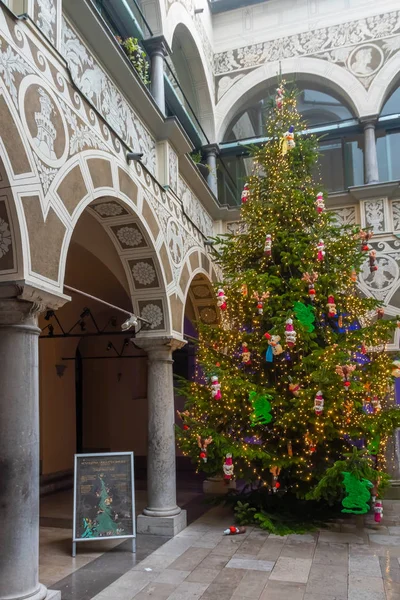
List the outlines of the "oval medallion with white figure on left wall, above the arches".
<svg viewBox="0 0 400 600">
<path fill-rule="evenodd" d="M 68 156 L 65 118 L 53 92 L 36 75 L 28 75 L 19 88 L 22 121 L 38 157 L 51 167 L 61 167 Z"/>
</svg>

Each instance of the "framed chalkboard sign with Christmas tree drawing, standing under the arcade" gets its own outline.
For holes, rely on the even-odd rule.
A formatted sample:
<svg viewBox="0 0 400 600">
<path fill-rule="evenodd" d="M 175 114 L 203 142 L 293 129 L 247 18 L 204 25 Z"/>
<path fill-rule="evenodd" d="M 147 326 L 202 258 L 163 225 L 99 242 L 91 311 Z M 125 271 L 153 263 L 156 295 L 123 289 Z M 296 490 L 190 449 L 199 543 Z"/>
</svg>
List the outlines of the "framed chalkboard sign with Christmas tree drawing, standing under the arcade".
<svg viewBox="0 0 400 600">
<path fill-rule="evenodd" d="M 135 552 L 133 452 L 75 454 L 74 524 L 76 542 L 132 538 Z"/>
</svg>

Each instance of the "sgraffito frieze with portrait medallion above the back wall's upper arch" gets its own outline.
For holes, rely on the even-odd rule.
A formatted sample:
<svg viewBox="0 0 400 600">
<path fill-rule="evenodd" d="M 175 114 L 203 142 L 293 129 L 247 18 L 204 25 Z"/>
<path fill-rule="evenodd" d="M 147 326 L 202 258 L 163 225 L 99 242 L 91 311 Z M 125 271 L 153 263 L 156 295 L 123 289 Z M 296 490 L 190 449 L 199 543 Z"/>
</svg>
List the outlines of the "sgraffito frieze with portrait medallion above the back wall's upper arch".
<svg viewBox="0 0 400 600">
<path fill-rule="evenodd" d="M 231 85 L 228 74 L 251 70 L 267 62 L 312 56 L 337 63 L 368 88 L 393 54 L 400 50 L 400 11 L 393 11 L 303 33 L 243 46 L 214 57 L 219 98 Z M 225 91 L 224 91 L 225 90 Z"/>
</svg>

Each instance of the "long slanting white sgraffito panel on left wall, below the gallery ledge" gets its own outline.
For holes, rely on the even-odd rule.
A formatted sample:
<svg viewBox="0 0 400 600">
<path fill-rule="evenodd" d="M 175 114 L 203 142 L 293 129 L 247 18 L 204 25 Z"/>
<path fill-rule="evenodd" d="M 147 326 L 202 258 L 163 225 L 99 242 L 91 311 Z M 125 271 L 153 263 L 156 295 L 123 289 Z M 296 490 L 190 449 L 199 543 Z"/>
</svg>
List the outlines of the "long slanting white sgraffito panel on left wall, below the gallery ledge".
<svg viewBox="0 0 400 600">
<path fill-rule="evenodd" d="M 62 31 L 62 54 L 68 63 L 74 83 L 117 135 L 134 152 L 144 154 L 143 163 L 154 175 L 156 171 L 155 140 L 65 19 Z"/>
</svg>

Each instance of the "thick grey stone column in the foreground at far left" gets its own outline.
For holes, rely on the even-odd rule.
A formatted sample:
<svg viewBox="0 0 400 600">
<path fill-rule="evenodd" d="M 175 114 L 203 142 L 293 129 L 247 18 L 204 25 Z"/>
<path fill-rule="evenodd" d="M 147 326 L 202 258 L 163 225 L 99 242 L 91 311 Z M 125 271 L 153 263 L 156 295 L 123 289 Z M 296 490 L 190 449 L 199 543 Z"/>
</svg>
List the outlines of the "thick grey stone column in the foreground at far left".
<svg viewBox="0 0 400 600">
<path fill-rule="evenodd" d="M 31 302 L 0 298 L 0 600 L 42 600 L 39 361 Z"/>
</svg>

